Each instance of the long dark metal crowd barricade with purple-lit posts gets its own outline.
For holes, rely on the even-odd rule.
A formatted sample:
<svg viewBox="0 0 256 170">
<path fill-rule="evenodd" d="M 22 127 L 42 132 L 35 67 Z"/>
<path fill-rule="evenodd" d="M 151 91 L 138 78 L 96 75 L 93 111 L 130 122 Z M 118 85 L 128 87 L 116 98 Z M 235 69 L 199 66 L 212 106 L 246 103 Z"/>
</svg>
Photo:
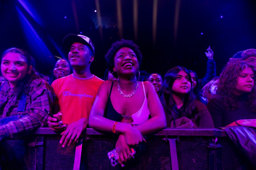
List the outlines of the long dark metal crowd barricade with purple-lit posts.
<svg viewBox="0 0 256 170">
<path fill-rule="evenodd" d="M 253 168 L 220 129 L 166 128 L 145 138 L 146 143 L 135 146 L 135 158 L 121 168 L 112 167 L 107 156 L 117 135 L 87 128 L 77 144 L 62 148 L 58 133 L 39 128 L 33 135 L 1 142 L 0 166 L 3 170 Z"/>
</svg>

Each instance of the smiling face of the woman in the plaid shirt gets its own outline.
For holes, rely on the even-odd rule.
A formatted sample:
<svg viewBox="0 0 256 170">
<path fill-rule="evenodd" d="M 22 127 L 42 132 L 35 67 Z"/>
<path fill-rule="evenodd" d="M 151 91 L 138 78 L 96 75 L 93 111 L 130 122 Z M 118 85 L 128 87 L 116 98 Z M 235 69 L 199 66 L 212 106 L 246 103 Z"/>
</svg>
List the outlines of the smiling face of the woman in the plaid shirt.
<svg viewBox="0 0 256 170">
<path fill-rule="evenodd" d="M 1 72 L 11 88 L 15 87 L 27 74 L 30 74 L 31 70 L 32 66 L 28 67 L 25 59 L 19 53 L 9 52 L 2 58 Z"/>
</svg>

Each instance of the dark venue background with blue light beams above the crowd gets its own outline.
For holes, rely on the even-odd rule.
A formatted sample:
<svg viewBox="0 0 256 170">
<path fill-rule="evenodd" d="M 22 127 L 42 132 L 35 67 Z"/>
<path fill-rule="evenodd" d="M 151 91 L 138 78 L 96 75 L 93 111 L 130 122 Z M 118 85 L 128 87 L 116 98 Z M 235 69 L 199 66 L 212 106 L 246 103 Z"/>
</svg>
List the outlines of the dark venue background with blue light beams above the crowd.
<svg viewBox="0 0 256 170">
<path fill-rule="evenodd" d="M 141 70 L 164 75 L 181 65 L 202 78 L 208 46 L 217 75 L 236 52 L 256 48 L 255 7 L 246 0 L 1 0 L 0 52 L 23 48 L 40 73 L 51 74 L 55 56 L 67 58 L 63 38 L 82 34 L 96 49 L 91 71 L 103 77 L 104 55 L 124 38 L 140 46 Z"/>
</svg>

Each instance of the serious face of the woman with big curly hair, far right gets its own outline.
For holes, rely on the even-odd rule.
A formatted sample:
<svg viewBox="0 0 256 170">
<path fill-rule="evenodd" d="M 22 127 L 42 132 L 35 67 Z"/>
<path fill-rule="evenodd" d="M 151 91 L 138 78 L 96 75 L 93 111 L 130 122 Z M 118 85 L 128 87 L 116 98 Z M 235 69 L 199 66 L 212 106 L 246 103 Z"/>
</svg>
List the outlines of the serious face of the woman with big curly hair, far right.
<svg viewBox="0 0 256 170">
<path fill-rule="evenodd" d="M 236 95 L 241 95 L 251 92 L 254 86 L 254 74 L 250 67 L 243 69 L 238 75 L 237 84 L 235 89 Z"/>
</svg>

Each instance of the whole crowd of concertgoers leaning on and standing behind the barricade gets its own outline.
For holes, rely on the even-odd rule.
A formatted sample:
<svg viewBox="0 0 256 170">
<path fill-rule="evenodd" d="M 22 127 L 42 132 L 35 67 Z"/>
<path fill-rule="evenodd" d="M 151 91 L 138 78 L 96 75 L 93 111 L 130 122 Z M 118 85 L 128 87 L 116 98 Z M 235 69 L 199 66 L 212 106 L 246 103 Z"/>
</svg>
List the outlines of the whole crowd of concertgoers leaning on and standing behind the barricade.
<svg viewBox="0 0 256 170">
<path fill-rule="evenodd" d="M 204 78 L 176 66 L 164 76 L 151 73 L 140 81 L 139 46 L 122 39 L 105 55 L 104 81 L 90 72 L 95 54 L 91 39 L 70 34 L 63 45 L 69 49 L 68 60 L 56 62 L 48 82 L 25 50 L 3 52 L 0 140 L 48 126 L 61 131 L 65 147 L 91 127 L 118 134 L 116 153 L 123 165 L 133 157 L 131 148 L 146 142 L 143 135 L 166 127 L 256 127 L 256 49 L 235 54 L 220 76 L 209 46 Z"/>
</svg>

